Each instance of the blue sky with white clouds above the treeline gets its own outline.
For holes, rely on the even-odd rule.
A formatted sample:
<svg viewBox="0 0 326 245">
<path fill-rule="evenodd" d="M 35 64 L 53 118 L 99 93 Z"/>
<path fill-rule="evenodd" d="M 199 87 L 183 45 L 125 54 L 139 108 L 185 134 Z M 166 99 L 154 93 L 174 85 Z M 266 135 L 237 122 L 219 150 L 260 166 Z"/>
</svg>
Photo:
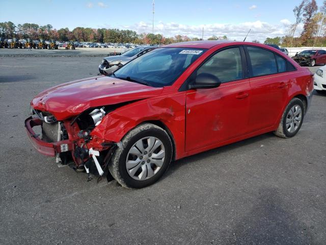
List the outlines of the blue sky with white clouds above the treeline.
<svg viewBox="0 0 326 245">
<path fill-rule="evenodd" d="M 294 21 L 292 10 L 300 2 L 156 0 L 154 32 L 200 37 L 204 27 L 204 37 L 226 35 L 239 39 L 251 28 L 249 40 L 264 40 L 287 33 L 288 24 Z M 321 6 L 322 0 L 317 4 Z M 1 0 L 0 22 L 4 21 L 49 23 L 56 29 L 119 28 L 148 33 L 152 31 L 152 0 Z"/>
</svg>

